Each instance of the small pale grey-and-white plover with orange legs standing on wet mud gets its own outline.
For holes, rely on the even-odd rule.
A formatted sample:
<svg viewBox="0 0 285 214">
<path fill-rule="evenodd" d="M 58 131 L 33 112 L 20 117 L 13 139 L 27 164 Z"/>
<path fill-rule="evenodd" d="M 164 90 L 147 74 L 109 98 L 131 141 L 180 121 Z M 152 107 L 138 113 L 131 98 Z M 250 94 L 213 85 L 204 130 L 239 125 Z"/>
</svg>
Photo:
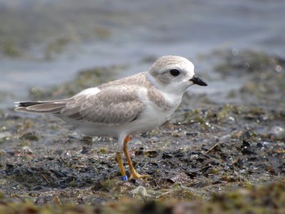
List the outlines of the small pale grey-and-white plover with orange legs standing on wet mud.
<svg viewBox="0 0 285 214">
<path fill-rule="evenodd" d="M 51 114 L 85 136 L 117 138 L 115 158 L 121 179 L 128 180 L 122 153 L 129 165 L 129 179 L 145 178 L 148 175 L 136 172 L 128 154 L 130 135 L 151 131 L 169 120 L 190 86 L 207 86 L 194 68 L 182 56 L 161 56 L 148 71 L 87 88 L 71 98 L 15 102 L 15 111 Z"/>
</svg>

